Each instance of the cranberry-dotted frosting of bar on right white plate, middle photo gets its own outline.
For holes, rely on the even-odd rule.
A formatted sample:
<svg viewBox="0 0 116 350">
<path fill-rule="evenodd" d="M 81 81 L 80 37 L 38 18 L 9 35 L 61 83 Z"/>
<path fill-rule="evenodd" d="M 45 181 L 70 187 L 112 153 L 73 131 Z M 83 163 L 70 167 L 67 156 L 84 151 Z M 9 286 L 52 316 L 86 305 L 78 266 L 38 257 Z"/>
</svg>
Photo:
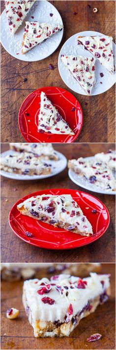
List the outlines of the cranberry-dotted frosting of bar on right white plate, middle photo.
<svg viewBox="0 0 116 350">
<path fill-rule="evenodd" d="M 69 161 L 69 168 L 73 168 L 79 175 L 84 175 L 90 183 L 102 189 L 115 190 L 115 177 L 111 169 L 101 160 L 87 161 L 84 158 Z"/>
</svg>

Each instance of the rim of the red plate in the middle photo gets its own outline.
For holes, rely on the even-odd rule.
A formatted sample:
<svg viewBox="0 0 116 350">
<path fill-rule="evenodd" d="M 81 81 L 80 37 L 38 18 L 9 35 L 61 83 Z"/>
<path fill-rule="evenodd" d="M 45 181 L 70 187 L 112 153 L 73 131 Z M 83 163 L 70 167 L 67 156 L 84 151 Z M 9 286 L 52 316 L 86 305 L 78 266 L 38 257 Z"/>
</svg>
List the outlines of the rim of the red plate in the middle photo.
<svg viewBox="0 0 116 350">
<path fill-rule="evenodd" d="M 71 191 L 71 192 L 73 192 L 74 194 L 75 194 L 75 192 L 78 192 L 78 193 L 80 193 L 80 194 L 86 194 L 86 195 L 89 195 L 90 197 L 92 197 L 92 198 L 95 198 L 100 204 L 102 204 L 103 205 L 103 207 L 104 207 L 104 209 L 105 209 L 105 211 L 106 211 L 106 214 L 107 214 L 107 216 L 108 216 L 108 218 L 107 218 L 107 225 L 106 225 L 106 227 L 105 227 L 105 229 L 104 229 L 104 231 L 102 232 L 102 233 L 100 233 L 99 234 L 99 236 L 97 236 L 96 235 L 96 237 L 93 237 L 93 236 L 90 236 L 90 237 L 85 237 L 85 238 L 91 238 L 91 241 L 90 242 L 86 242 L 86 243 L 81 243 L 79 246 L 77 245 L 77 246 L 74 246 L 74 247 L 62 247 L 62 246 L 60 246 L 60 247 L 49 247 L 49 246 L 47 246 L 47 247 L 44 247 L 43 245 L 41 245 L 41 243 L 39 242 L 39 245 L 38 244 L 36 244 L 36 243 L 33 243 L 33 242 L 31 242 L 31 241 L 27 241 L 27 238 L 25 239 L 25 238 L 23 238 L 23 237 L 21 237 L 16 231 L 15 231 L 15 229 L 13 228 L 13 225 L 12 225 L 12 220 L 10 220 L 10 217 L 11 217 L 11 214 L 12 214 L 12 211 L 13 211 L 13 209 L 22 201 L 22 200 L 26 200 L 27 199 L 27 197 L 28 198 L 30 198 L 30 197 L 32 197 L 32 196 L 36 196 L 36 195 L 38 195 L 40 192 L 43 192 L 43 193 L 45 193 L 46 194 L 46 191 L 47 192 L 49 192 L 49 191 L 51 191 L 51 190 L 54 190 L 54 191 Z M 36 192 L 33 192 L 33 193 L 30 193 L 29 195 L 27 195 L 27 196 L 25 196 L 25 197 L 23 197 L 23 198 L 21 198 L 21 199 L 19 199 L 13 206 L 12 206 L 12 208 L 11 208 L 11 210 L 10 210 L 10 212 L 9 212 L 9 216 L 8 216 L 8 220 L 9 220 L 9 225 L 10 225 L 10 227 L 11 227 L 11 229 L 12 229 L 12 231 L 16 234 L 16 236 L 18 236 L 20 239 L 22 239 L 23 241 L 25 241 L 26 243 L 29 243 L 30 245 L 33 245 L 33 246 L 37 246 L 38 248 L 43 248 L 43 249 L 49 249 L 49 250 L 69 250 L 69 249 L 75 249 L 75 248 L 79 248 L 79 247 L 82 247 L 82 246 L 86 246 L 87 244 L 90 244 L 90 243 L 92 243 L 92 242 L 94 242 L 94 241 L 96 241 L 97 239 L 99 239 L 100 237 L 102 237 L 102 235 L 106 232 L 106 230 L 107 230 L 107 228 L 108 228 L 108 226 L 109 226 L 109 223 L 110 223 L 110 214 L 109 214 L 109 212 L 108 212 L 108 209 L 106 208 L 106 206 L 99 200 L 99 199 L 97 199 L 96 197 L 94 197 L 94 196 L 92 196 L 91 194 L 89 194 L 89 193 L 86 193 L 86 192 L 83 192 L 83 191 L 78 191 L 78 190 L 72 190 L 72 189 L 67 189 L 67 188 L 65 188 L 65 189 L 62 189 L 62 188 L 52 188 L 52 189 L 46 189 L 46 190 L 41 190 L 41 191 L 36 191 Z M 67 231 L 68 232 L 68 231 Z M 83 237 L 83 236 L 81 236 L 81 237 Z M 47 244 L 47 243 L 46 243 Z M 77 240 L 77 244 L 78 244 L 78 240 Z"/>
</svg>

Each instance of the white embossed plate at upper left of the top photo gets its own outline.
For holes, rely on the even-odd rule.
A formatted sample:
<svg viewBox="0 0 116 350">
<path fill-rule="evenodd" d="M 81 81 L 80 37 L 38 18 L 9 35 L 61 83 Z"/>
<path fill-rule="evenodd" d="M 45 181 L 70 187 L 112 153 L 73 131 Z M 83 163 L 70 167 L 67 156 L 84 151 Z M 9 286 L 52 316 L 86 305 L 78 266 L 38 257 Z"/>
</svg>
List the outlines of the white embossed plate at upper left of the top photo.
<svg viewBox="0 0 116 350">
<path fill-rule="evenodd" d="M 53 13 L 52 17 L 50 16 L 50 13 Z M 34 16 L 34 19 L 32 19 L 31 16 Z M 8 28 L 8 19 L 4 10 L 1 14 L 1 44 L 5 50 L 15 58 L 30 62 L 39 61 L 51 55 L 61 42 L 63 30 L 56 33 L 53 37 L 49 38 L 44 43 L 41 43 L 40 45 L 34 47 L 25 55 L 22 55 L 21 48 L 25 21 L 39 21 L 40 23 L 48 22 L 62 24 L 61 16 L 55 6 L 53 6 L 48 1 L 35 1 L 23 24 L 19 27 L 15 35 L 11 36 Z"/>
</svg>

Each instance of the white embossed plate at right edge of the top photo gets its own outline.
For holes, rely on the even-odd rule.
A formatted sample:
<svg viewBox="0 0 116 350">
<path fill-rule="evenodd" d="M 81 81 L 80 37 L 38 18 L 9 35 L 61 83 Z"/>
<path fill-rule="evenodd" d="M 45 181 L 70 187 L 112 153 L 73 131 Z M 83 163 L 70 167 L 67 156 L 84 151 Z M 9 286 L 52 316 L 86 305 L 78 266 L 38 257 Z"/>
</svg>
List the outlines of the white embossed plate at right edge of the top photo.
<svg viewBox="0 0 116 350">
<path fill-rule="evenodd" d="M 78 36 L 96 36 L 102 35 L 102 33 L 94 32 L 94 31 L 86 31 L 80 32 L 73 35 L 69 38 L 62 46 L 59 57 L 58 57 L 58 69 L 59 74 L 63 80 L 63 82 L 67 85 L 68 88 L 71 88 L 73 91 L 80 93 L 81 95 L 87 95 L 83 88 L 81 88 L 80 84 L 73 78 L 72 74 L 69 72 L 68 68 L 66 68 L 61 62 L 61 55 L 74 55 L 74 56 L 86 56 L 93 57 L 93 55 L 85 49 L 84 46 L 77 45 L 77 37 Z M 114 52 L 114 62 L 116 63 L 116 45 L 113 43 L 113 52 Z M 116 66 L 116 64 L 115 64 Z M 100 73 L 103 73 L 103 78 L 100 77 Z M 112 75 L 107 71 L 105 67 L 103 67 L 100 62 L 96 59 L 95 63 L 95 83 L 92 88 L 91 95 L 98 95 L 99 93 L 103 93 L 111 88 L 116 81 L 116 72 Z M 102 84 L 100 84 L 102 82 Z"/>
</svg>

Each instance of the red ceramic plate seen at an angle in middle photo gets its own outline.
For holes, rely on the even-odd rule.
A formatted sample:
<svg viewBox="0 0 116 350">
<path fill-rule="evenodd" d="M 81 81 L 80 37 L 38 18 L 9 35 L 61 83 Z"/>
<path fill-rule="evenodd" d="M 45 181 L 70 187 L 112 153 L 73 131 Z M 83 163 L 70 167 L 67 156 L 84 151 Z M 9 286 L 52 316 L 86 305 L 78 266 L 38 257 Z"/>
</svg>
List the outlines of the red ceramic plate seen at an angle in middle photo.
<svg viewBox="0 0 116 350">
<path fill-rule="evenodd" d="M 76 233 L 56 228 L 45 222 L 22 215 L 17 210 L 17 205 L 31 196 L 41 194 L 71 194 L 72 198 L 83 210 L 84 215 L 90 221 L 93 229 L 93 236 L 84 237 Z M 88 208 L 88 209 L 87 209 Z M 97 213 L 91 213 L 96 209 Z M 14 204 L 9 213 L 9 224 L 14 233 L 23 241 L 37 247 L 47 249 L 70 249 L 89 244 L 100 238 L 108 228 L 110 216 L 108 210 L 102 202 L 88 193 L 71 189 L 47 189 L 30 193 Z M 33 237 L 29 238 L 25 232 L 29 231 Z"/>
</svg>

